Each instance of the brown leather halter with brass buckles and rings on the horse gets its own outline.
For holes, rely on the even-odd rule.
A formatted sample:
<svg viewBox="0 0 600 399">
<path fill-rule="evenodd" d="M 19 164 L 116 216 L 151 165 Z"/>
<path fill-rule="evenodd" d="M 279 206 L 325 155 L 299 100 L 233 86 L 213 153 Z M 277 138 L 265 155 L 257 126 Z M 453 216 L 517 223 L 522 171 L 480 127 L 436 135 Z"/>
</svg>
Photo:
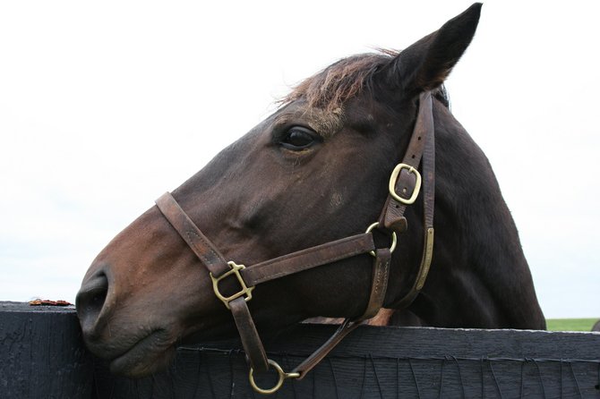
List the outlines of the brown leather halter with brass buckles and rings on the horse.
<svg viewBox="0 0 600 399">
<path fill-rule="evenodd" d="M 236 321 L 244 352 L 250 361 L 250 382 L 254 390 L 262 394 L 276 392 L 287 378 L 304 378 L 350 331 L 364 320 L 373 318 L 383 306 L 390 275 L 391 252 L 396 246 L 397 234 L 407 230 L 404 212 L 413 204 L 423 187 L 424 200 L 424 250 L 415 283 L 399 301 L 388 304 L 390 308 L 406 308 L 423 288 L 433 255 L 433 197 L 435 147 L 433 134 L 433 104 L 430 92 L 420 97 L 419 112 L 415 129 L 402 162 L 394 168 L 390 177 L 388 199 L 378 223 L 369 226 L 367 231 L 340 240 L 327 242 L 305 250 L 289 253 L 279 258 L 266 260 L 251 267 L 227 261 L 212 242 L 203 234 L 170 193 L 163 194 L 156 204 L 168 222 L 181 235 L 201 263 L 208 268 L 215 294 L 227 307 Z M 423 162 L 422 161 L 423 158 Z M 422 165 L 422 175 L 417 171 Z M 373 243 L 373 228 L 388 230 L 392 234 L 390 249 L 376 249 Z M 369 301 L 361 317 L 346 319 L 338 330 L 317 351 L 300 363 L 296 369 L 286 373 L 275 361 L 267 358 L 261 338 L 254 326 L 247 301 L 252 299 L 253 289 L 261 284 L 280 277 L 289 276 L 313 267 L 327 265 L 341 259 L 370 253 L 373 255 L 373 282 Z M 225 296 L 219 291 L 219 284 L 225 278 L 236 278 L 240 290 Z M 262 389 L 256 386 L 253 372 L 266 371 L 273 366 L 279 374 L 276 386 Z"/>
</svg>

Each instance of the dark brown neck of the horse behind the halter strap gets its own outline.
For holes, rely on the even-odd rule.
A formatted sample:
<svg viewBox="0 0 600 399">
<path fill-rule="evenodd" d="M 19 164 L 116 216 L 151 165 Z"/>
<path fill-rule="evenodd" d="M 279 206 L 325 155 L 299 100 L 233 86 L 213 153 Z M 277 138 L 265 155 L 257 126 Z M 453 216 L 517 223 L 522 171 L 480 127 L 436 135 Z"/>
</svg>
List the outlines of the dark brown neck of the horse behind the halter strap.
<svg viewBox="0 0 600 399">
<path fill-rule="evenodd" d="M 517 228 L 487 158 L 437 104 L 435 249 L 410 307 L 439 327 L 544 328 Z"/>
</svg>

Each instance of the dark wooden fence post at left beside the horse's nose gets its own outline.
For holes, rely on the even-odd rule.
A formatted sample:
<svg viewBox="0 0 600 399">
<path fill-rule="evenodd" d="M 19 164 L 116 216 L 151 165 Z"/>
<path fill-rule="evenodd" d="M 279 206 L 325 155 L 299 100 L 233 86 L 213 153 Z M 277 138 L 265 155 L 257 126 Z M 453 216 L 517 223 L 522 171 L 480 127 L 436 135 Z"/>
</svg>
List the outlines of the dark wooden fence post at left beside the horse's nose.
<svg viewBox="0 0 600 399">
<path fill-rule="evenodd" d="M 93 369 L 73 307 L 0 302 L 0 398 L 90 399 Z"/>
</svg>

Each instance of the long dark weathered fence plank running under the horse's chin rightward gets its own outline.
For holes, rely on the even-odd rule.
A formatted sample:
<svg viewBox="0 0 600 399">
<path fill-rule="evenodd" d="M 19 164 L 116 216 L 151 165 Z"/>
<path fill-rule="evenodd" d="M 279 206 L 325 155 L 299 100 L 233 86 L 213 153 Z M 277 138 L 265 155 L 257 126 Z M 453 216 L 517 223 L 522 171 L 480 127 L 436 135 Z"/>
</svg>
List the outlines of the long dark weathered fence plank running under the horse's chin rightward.
<svg viewBox="0 0 600 399">
<path fill-rule="evenodd" d="M 292 369 L 332 329 L 303 325 L 272 337 L 270 357 Z M 99 397 L 258 397 L 239 348 L 236 341 L 181 348 L 171 369 L 135 385 L 99 365 L 107 383 Z M 599 376 L 593 333 L 360 327 L 275 397 L 600 397 Z"/>
</svg>

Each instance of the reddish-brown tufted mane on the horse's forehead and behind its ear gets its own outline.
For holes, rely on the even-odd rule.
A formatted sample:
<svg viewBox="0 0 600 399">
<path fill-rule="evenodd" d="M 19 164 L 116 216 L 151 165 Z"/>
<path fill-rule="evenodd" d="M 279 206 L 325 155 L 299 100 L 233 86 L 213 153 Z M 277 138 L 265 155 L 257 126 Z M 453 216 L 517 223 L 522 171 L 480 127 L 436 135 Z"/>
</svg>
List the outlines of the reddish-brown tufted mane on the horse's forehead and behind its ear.
<svg viewBox="0 0 600 399">
<path fill-rule="evenodd" d="M 321 72 L 300 82 L 279 103 L 289 104 L 304 98 L 309 107 L 333 111 L 340 108 L 348 99 L 354 98 L 364 89 L 373 87 L 373 76 L 399 51 L 380 49 L 378 53 L 366 53 L 342 58 Z M 442 85 L 433 96 L 450 107 L 448 92 Z"/>
</svg>

